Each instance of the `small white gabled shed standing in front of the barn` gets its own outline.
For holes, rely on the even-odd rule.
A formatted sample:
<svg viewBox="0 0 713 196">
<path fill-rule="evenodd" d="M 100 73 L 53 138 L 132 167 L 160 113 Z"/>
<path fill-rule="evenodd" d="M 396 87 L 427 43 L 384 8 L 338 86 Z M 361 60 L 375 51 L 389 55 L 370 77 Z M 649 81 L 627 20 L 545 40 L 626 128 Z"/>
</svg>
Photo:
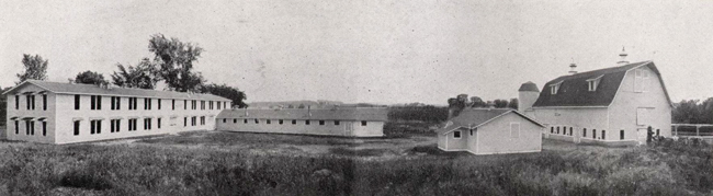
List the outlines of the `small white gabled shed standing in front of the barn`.
<svg viewBox="0 0 713 196">
<path fill-rule="evenodd" d="M 474 154 L 540 152 L 544 128 L 514 109 L 465 108 L 437 130 L 438 147 Z"/>
</svg>

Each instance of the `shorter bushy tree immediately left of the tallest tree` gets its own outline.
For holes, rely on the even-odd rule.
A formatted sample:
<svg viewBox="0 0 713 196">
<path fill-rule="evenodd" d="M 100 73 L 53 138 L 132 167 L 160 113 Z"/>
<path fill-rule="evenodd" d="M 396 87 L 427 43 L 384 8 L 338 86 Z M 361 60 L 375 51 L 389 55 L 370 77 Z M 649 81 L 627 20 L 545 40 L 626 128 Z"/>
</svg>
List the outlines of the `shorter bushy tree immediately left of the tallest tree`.
<svg viewBox="0 0 713 196">
<path fill-rule="evenodd" d="M 158 69 L 148 58 L 144 58 L 136 67 L 124 67 L 116 64 L 118 72 L 111 74 L 112 83 L 124 88 L 156 89 L 156 83 L 161 80 Z"/>
</svg>

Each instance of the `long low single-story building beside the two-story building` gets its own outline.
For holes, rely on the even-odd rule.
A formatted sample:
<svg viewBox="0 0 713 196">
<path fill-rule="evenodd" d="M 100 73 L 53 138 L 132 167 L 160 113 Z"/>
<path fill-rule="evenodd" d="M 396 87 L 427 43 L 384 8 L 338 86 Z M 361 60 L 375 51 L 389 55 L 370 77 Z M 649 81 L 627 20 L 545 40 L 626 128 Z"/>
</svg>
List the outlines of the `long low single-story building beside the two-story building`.
<svg viewBox="0 0 713 196">
<path fill-rule="evenodd" d="M 225 109 L 217 130 L 344 137 L 382 137 L 387 111 L 383 107 Z"/>
</svg>

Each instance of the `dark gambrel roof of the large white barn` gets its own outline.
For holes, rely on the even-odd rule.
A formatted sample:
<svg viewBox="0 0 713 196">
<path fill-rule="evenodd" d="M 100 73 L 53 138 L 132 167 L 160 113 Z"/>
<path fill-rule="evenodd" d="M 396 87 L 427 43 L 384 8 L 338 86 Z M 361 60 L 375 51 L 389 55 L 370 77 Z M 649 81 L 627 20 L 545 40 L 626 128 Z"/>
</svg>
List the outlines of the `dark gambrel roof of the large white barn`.
<svg viewBox="0 0 713 196">
<path fill-rule="evenodd" d="M 666 91 L 666 85 L 661 79 L 660 72 L 656 69 L 653 61 L 634 62 L 624 66 L 611 67 L 606 69 L 598 69 L 570 76 L 562 76 L 552 81 L 548 81 L 543 90 L 540 92 L 537 101 L 532 105 L 533 107 L 546 106 L 595 106 L 607 107 L 609 106 L 619 91 L 626 72 L 642 66 L 647 66 L 657 76 L 669 104 L 671 100 Z M 596 91 L 589 91 L 588 80 L 598 79 L 599 84 Z M 556 94 L 552 94 L 547 89 L 553 84 L 559 84 L 559 90 Z"/>
</svg>

